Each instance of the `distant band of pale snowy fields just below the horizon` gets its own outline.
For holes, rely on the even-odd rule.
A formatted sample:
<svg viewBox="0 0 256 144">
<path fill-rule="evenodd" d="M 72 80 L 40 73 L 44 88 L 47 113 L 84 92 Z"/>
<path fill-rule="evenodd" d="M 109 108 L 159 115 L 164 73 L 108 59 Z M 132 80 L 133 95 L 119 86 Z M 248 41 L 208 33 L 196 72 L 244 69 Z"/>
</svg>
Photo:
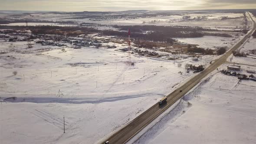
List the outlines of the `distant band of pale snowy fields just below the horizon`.
<svg viewBox="0 0 256 144">
<path fill-rule="evenodd" d="M 102 20 L 101 18 L 94 20 L 91 20 L 91 17 L 88 14 L 57 14 L 57 13 L 31 13 L 30 15 L 24 14 L 21 16 L 15 16 L 16 20 L 21 19 L 31 19 L 31 20 L 47 20 L 47 21 L 75 21 L 77 23 L 98 23 L 98 24 L 104 24 L 104 25 L 166 25 L 166 26 L 201 26 L 205 28 L 213 28 L 213 29 L 243 29 L 246 28 L 246 25 L 244 24 L 243 13 L 220 13 L 220 11 L 216 11 L 216 13 L 205 11 L 204 13 L 197 13 L 196 11 L 191 11 L 190 13 L 184 12 L 169 12 L 166 13 L 164 16 L 159 15 L 152 15 L 150 14 L 157 14 L 159 12 L 149 12 L 144 13 L 147 14 L 146 18 L 136 17 L 138 13 L 134 13 L 133 18 L 125 18 L 123 16 L 129 16 L 131 13 L 108 13 L 108 14 L 98 14 L 99 16 L 103 16 Z M 120 18 L 112 18 L 113 15 L 120 14 Z M 13 16 L 13 13 L 9 14 L 10 16 Z M 2 14 L 0 17 L 2 18 L 8 18 L 8 13 Z M 169 15 L 169 16 L 166 16 Z M 9 16 L 9 17 L 10 17 Z M 97 16 L 97 14 L 95 14 Z M 189 16 L 189 19 L 184 20 L 184 16 Z M 228 19 L 228 20 L 221 20 L 224 16 L 227 16 L 228 18 L 236 18 L 236 19 Z M 84 18 L 81 18 L 84 17 Z M 105 19 L 106 17 L 109 17 Z M 204 19 L 196 20 L 199 17 L 204 17 Z M 13 19 L 11 19 L 13 20 Z M 18 23 L 10 23 L 10 24 L 4 24 L 4 25 L 18 25 Z M 24 25 L 24 24 L 19 24 Z M 34 25 L 34 24 L 32 24 Z M 45 25 L 45 24 L 42 24 Z M 55 25 L 55 24 L 51 24 Z M 58 25 L 63 26 L 63 25 Z"/>
</svg>

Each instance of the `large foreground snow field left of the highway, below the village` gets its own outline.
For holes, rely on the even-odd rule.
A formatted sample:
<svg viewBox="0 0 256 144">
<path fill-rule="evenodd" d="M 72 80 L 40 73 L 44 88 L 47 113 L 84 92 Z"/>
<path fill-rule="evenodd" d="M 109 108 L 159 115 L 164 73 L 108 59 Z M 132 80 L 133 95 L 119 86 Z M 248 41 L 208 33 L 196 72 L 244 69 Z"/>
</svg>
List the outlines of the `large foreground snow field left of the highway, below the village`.
<svg viewBox="0 0 256 144">
<path fill-rule="evenodd" d="M 177 63 L 145 57 L 132 56 L 129 66 L 127 54 L 112 49 L 0 44 L 8 52 L 0 55 L 1 99 L 17 97 L 1 104 L 1 144 L 95 143 L 193 75 Z"/>
</svg>

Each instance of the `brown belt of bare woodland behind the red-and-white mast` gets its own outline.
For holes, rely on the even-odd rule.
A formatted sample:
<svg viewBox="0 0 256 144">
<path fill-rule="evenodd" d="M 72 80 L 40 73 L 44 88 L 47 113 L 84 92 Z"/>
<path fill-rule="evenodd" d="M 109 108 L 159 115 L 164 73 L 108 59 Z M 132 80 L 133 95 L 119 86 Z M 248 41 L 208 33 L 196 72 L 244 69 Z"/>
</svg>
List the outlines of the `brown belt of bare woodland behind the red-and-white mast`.
<svg viewBox="0 0 256 144">
<path fill-rule="evenodd" d="M 129 28 L 131 37 L 135 40 L 173 43 L 172 38 L 194 38 L 202 36 L 224 36 L 232 37 L 229 34 L 221 33 L 201 33 L 201 31 L 216 31 L 215 29 L 203 29 L 200 27 L 171 27 L 171 26 L 114 26 L 120 31 L 103 30 L 102 34 L 107 36 L 127 37 Z M 143 33 L 147 31 L 148 33 Z M 218 31 L 218 30 L 217 30 Z"/>
</svg>

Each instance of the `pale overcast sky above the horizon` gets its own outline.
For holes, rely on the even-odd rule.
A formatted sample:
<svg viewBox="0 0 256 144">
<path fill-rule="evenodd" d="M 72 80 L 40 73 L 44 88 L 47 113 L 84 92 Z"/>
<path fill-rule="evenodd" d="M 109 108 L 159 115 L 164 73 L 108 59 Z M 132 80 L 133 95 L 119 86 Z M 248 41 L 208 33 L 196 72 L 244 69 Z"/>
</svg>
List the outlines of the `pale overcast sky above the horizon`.
<svg viewBox="0 0 256 144">
<path fill-rule="evenodd" d="M 123 11 L 255 8 L 256 0 L 0 0 L 0 10 Z"/>
</svg>

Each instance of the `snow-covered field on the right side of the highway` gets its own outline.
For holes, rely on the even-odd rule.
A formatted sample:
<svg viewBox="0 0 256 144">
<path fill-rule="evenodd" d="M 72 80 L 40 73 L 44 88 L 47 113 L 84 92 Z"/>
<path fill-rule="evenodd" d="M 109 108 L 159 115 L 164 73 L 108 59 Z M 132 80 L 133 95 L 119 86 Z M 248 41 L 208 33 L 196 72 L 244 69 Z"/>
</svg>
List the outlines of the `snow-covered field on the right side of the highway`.
<svg viewBox="0 0 256 144">
<path fill-rule="evenodd" d="M 256 143 L 256 82 L 216 72 L 134 144 Z"/>
</svg>

